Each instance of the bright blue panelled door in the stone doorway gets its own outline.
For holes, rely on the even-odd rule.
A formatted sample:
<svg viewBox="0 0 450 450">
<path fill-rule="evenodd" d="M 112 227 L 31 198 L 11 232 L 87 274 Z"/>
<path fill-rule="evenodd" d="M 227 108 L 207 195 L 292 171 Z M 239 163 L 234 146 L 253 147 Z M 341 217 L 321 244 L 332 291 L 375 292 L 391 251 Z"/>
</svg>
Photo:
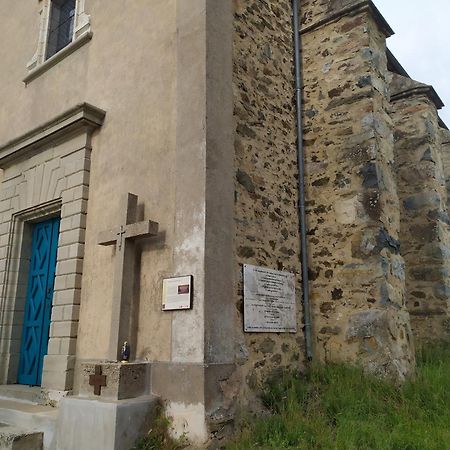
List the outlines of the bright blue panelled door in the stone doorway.
<svg viewBox="0 0 450 450">
<path fill-rule="evenodd" d="M 19 384 L 41 384 L 52 313 L 59 221 L 59 218 L 55 218 L 33 225 L 17 380 Z"/>
</svg>

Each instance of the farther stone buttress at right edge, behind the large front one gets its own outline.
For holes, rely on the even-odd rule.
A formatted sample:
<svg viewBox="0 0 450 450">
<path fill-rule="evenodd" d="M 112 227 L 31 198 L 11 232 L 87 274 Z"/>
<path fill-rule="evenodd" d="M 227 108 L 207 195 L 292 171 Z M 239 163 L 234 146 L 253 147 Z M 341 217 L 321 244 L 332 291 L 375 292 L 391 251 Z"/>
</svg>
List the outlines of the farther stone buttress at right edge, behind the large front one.
<svg viewBox="0 0 450 450">
<path fill-rule="evenodd" d="M 391 96 L 407 303 L 421 345 L 450 331 L 450 221 L 436 109 L 442 105 L 431 86 L 397 74 Z"/>
</svg>

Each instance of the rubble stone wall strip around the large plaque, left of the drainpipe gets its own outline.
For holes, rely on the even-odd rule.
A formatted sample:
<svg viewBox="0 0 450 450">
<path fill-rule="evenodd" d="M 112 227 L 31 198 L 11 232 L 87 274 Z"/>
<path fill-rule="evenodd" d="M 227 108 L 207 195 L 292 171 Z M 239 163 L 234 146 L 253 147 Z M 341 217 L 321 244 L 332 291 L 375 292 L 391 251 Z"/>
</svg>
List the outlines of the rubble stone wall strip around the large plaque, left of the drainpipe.
<svg viewBox="0 0 450 450">
<path fill-rule="evenodd" d="M 234 2 L 237 360 L 244 390 L 304 361 L 290 0 Z M 296 334 L 243 334 L 242 264 L 297 276 Z"/>
</svg>

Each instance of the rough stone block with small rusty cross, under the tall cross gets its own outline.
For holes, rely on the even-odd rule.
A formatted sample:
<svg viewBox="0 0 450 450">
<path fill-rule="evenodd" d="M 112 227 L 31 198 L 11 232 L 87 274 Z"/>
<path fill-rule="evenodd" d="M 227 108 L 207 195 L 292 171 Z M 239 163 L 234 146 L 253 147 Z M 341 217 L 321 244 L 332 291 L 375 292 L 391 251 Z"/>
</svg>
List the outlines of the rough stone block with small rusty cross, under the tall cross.
<svg viewBox="0 0 450 450">
<path fill-rule="evenodd" d="M 96 397 L 89 377 L 95 373 L 95 366 L 101 365 L 106 376 L 106 386 L 101 388 L 101 399 L 123 400 L 139 397 L 148 392 L 150 364 L 146 363 L 104 363 L 84 362 L 81 364 L 81 397 Z"/>
</svg>

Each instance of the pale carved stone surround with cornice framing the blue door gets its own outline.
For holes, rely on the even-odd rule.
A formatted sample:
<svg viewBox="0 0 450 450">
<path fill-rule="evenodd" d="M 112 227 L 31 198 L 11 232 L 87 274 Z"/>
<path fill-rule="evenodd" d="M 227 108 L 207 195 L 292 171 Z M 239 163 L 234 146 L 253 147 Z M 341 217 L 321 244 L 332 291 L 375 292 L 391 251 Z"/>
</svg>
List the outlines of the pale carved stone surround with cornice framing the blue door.
<svg viewBox="0 0 450 450">
<path fill-rule="evenodd" d="M 91 136 L 104 117 L 104 111 L 83 103 L 0 147 L 0 383 L 17 380 L 31 224 L 60 215 L 42 386 L 72 389 Z"/>
</svg>

